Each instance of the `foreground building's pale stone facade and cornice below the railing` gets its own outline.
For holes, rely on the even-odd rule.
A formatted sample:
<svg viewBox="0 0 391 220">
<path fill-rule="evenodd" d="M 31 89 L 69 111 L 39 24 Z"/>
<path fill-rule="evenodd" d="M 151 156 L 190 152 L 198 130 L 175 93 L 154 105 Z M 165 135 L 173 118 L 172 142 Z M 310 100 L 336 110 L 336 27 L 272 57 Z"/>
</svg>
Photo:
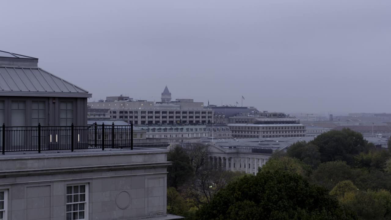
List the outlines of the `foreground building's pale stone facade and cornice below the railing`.
<svg viewBox="0 0 391 220">
<path fill-rule="evenodd" d="M 0 157 L 5 219 L 177 219 L 166 215 L 167 150 L 90 150 Z"/>
</svg>

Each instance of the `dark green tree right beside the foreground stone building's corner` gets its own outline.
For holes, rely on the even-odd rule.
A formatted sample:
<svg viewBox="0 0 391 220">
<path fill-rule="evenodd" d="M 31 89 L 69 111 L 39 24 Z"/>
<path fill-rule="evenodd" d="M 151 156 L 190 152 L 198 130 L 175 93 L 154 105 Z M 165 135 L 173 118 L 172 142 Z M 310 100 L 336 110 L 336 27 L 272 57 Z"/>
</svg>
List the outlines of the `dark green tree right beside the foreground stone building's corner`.
<svg viewBox="0 0 391 220">
<path fill-rule="evenodd" d="M 193 176 L 190 158 L 183 148 L 176 146 L 167 154 L 167 161 L 172 161 L 172 165 L 167 168 L 167 185 L 178 189 Z"/>
</svg>

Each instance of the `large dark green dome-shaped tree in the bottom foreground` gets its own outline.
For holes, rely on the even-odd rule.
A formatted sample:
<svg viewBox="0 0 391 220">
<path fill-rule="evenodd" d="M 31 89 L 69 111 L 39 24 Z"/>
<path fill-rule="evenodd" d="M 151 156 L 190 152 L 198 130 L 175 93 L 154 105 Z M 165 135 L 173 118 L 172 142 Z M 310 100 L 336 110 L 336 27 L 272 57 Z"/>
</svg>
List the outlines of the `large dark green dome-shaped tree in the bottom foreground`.
<svg viewBox="0 0 391 220">
<path fill-rule="evenodd" d="M 268 162 L 269 163 L 269 162 Z M 285 170 L 262 170 L 221 189 L 198 219 L 355 219 L 324 188 Z"/>
</svg>

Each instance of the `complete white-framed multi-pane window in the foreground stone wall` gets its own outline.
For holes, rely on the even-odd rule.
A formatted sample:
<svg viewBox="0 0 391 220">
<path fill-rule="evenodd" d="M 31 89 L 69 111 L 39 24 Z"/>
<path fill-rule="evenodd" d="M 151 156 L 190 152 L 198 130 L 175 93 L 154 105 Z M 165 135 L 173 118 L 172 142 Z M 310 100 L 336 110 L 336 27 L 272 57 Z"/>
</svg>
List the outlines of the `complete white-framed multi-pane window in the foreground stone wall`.
<svg viewBox="0 0 391 220">
<path fill-rule="evenodd" d="M 66 187 L 66 220 L 88 219 L 88 185 Z"/>
</svg>

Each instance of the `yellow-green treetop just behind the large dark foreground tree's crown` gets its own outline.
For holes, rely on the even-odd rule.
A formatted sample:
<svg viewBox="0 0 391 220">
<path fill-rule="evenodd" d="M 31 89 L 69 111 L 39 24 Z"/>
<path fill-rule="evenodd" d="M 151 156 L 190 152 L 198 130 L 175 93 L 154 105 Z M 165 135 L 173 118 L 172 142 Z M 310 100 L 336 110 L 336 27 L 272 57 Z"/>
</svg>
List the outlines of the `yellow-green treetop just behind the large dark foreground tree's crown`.
<svg viewBox="0 0 391 220">
<path fill-rule="evenodd" d="M 282 170 L 308 177 L 311 168 L 296 158 L 280 157 L 269 159 L 269 161 L 260 169 L 261 172 L 276 172 Z"/>
</svg>

